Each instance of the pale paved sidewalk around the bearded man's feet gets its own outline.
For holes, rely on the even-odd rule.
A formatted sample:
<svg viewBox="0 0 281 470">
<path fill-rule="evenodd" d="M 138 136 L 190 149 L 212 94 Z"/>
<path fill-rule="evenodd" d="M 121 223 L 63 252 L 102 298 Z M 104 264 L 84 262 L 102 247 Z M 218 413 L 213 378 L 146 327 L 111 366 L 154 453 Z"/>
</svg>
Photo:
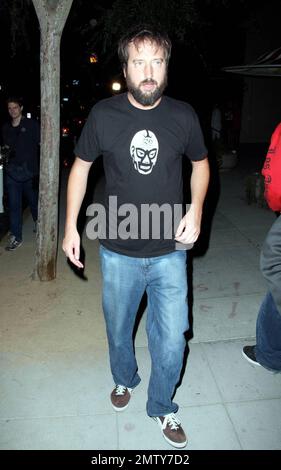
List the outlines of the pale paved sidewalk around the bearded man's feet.
<svg viewBox="0 0 281 470">
<path fill-rule="evenodd" d="M 193 262 L 193 338 L 175 401 L 191 449 L 280 449 L 281 375 L 242 357 L 266 286 L 259 252 L 274 214 L 246 205 L 245 169 L 221 174 L 210 246 Z M 98 189 L 99 190 L 99 187 Z M 64 194 L 62 192 L 62 198 Z M 62 236 L 63 217 L 61 218 Z M 84 237 L 85 279 L 59 251 L 57 278 L 32 281 L 35 237 L 1 259 L 0 449 L 172 450 L 145 412 L 145 314 L 136 336 L 141 384 L 116 413 L 109 395 L 98 243 Z"/>
</svg>

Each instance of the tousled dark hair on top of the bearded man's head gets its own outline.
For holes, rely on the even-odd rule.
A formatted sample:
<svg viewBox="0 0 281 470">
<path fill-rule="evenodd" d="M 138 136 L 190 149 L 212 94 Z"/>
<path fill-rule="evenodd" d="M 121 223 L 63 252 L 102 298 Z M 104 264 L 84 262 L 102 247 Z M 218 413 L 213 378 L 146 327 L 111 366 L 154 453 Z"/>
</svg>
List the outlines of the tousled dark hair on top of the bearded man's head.
<svg viewBox="0 0 281 470">
<path fill-rule="evenodd" d="M 125 67 L 128 62 L 129 44 L 133 43 L 138 48 L 144 41 L 154 43 L 156 47 L 162 47 L 165 52 L 166 64 L 168 64 L 172 48 L 168 35 L 154 26 L 136 26 L 119 40 L 118 56 L 122 67 Z"/>
</svg>

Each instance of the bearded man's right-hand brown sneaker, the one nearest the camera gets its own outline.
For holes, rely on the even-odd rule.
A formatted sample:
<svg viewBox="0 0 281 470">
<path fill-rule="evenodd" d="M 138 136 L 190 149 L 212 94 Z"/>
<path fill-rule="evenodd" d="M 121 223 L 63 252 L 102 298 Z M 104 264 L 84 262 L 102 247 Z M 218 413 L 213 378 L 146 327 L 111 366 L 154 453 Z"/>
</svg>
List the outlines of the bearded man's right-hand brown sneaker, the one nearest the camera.
<svg viewBox="0 0 281 470">
<path fill-rule="evenodd" d="M 187 444 L 187 438 L 181 422 L 174 413 L 153 418 L 159 424 L 164 439 L 173 447 L 180 449 Z"/>
</svg>

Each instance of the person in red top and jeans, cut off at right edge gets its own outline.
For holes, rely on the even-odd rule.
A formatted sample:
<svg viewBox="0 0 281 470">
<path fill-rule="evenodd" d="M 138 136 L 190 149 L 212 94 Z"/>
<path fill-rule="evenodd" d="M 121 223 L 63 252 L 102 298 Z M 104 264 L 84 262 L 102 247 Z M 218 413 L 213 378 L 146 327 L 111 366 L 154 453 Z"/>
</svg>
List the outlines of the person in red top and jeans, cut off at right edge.
<svg viewBox="0 0 281 470">
<path fill-rule="evenodd" d="M 281 372 L 281 123 L 276 127 L 262 169 L 265 199 L 277 215 L 265 239 L 260 259 L 268 292 L 256 323 L 256 344 L 244 346 L 243 356 L 252 364 Z"/>
</svg>

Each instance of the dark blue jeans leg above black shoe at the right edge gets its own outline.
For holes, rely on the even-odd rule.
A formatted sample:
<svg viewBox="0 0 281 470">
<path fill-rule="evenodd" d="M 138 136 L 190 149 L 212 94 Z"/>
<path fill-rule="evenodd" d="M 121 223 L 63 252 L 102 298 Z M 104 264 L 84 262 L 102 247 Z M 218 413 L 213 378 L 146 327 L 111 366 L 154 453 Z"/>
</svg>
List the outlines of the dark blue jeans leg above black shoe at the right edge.
<svg viewBox="0 0 281 470">
<path fill-rule="evenodd" d="M 281 314 L 270 292 L 260 307 L 256 325 L 258 362 L 270 370 L 281 371 Z"/>
</svg>

